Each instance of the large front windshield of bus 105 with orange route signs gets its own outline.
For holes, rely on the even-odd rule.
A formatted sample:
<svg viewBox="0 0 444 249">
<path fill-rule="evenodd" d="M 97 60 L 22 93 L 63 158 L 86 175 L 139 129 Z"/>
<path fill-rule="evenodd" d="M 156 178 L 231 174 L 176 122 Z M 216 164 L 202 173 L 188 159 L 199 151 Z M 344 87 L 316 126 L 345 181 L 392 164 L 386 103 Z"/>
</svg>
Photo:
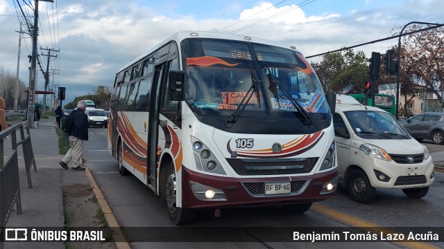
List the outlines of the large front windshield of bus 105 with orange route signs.
<svg viewBox="0 0 444 249">
<path fill-rule="evenodd" d="M 246 42 L 186 39 L 182 55 L 185 100 L 207 124 L 225 129 L 213 122 L 223 124 L 219 118 L 227 120 L 236 109 L 244 108 L 239 122 L 261 120 L 268 123 L 268 129 L 276 122 L 282 128 L 278 133 L 312 133 L 330 126 L 330 109 L 318 77 L 296 51 Z M 252 85 L 255 91 L 249 91 Z M 243 106 L 239 106 L 241 102 Z M 301 127 L 307 119 L 313 120 L 315 127 Z M 237 126 L 232 128 L 241 132 Z M 259 129 L 257 132 L 264 133 Z"/>
</svg>

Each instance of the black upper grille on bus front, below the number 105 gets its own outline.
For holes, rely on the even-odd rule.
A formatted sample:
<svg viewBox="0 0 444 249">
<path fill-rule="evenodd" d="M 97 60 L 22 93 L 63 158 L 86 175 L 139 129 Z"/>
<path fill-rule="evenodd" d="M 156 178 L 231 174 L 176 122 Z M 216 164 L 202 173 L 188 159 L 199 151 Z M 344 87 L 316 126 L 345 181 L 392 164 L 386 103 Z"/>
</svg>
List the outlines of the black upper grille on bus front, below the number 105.
<svg viewBox="0 0 444 249">
<path fill-rule="evenodd" d="M 305 174 L 311 172 L 318 158 L 240 159 L 227 158 L 234 171 L 241 176 Z"/>
</svg>

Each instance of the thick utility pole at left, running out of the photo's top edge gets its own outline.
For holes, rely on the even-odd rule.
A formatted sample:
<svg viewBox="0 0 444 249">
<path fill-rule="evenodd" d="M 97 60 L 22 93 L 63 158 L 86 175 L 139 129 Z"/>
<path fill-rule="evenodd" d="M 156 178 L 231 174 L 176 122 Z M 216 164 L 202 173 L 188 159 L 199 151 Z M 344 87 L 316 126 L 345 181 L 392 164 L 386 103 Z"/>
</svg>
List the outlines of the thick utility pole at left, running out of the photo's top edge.
<svg viewBox="0 0 444 249">
<path fill-rule="evenodd" d="M 35 81 L 37 76 L 36 64 L 37 64 L 37 34 L 38 34 L 38 21 L 39 21 L 39 1 L 49 1 L 53 3 L 53 0 L 35 0 L 34 1 L 34 26 L 33 26 L 33 55 L 31 57 L 31 71 L 29 72 L 29 92 L 28 92 L 28 112 L 26 114 L 26 120 L 28 126 L 34 128 L 34 91 Z"/>
</svg>

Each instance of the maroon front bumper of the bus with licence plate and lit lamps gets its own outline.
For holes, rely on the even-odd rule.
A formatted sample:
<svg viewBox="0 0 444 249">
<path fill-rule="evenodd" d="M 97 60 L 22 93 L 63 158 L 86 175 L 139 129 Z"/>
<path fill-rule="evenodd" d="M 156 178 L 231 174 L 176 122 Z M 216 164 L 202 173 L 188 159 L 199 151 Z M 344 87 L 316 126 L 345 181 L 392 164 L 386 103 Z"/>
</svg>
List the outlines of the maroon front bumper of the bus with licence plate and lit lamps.
<svg viewBox="0 0 444 249">
<path fill-rule="evenodd" d="M 241 208 L 312 203 L 336 196 L 336 185 L 336 169 L 311 176 L 231 178 L 201 174 L 182 167 L 182 208 Z M 270 193 L 271 188 L 281 186 L 291 187 L 291 191 Z"/>
</svg>

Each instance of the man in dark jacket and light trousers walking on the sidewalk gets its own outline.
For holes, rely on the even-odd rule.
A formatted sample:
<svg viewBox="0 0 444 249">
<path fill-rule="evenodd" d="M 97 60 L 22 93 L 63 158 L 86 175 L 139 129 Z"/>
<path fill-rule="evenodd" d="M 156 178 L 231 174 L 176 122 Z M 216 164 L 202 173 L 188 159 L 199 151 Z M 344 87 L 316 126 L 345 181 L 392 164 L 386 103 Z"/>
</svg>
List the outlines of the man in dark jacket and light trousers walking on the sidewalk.
<svg viewBox="0 0 444 249">
<path fill-rule="evenodd" d="M 60 166 L 68 169 L 69 161 L 72 161 L 71 170 L 85 170 L 80 166 L 80 157 L 83 151 L 83 141 L 88 140 L 88 117 L 85 113 L 86 102 L 80 100 L 77 109 L 74 110 L 74 130 L 69 134 L 69 150 L 65 157 L 59 162 Z"/>
</svg>

